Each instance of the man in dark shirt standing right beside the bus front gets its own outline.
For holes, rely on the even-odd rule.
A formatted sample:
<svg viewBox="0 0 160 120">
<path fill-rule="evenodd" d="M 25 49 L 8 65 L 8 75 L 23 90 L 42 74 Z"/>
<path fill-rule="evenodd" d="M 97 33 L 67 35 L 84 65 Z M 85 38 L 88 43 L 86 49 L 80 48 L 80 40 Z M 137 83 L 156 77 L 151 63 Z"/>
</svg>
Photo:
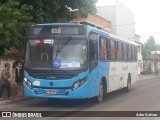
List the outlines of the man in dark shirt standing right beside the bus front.
<svg viewBox="0 0 160 120">
<path fill-rule="evenodd" d="M 13 77 L 15 78 L 15 81 L 18 85 L 18 94 L 17 96 L 23 96 L 22 93 L 22 84 L 23 84 L 23 78 L 24 78 L 24 62 L 21 60 L 21 58 L 18 56 L 17 60 L 13 63 Z"/>
</svg>

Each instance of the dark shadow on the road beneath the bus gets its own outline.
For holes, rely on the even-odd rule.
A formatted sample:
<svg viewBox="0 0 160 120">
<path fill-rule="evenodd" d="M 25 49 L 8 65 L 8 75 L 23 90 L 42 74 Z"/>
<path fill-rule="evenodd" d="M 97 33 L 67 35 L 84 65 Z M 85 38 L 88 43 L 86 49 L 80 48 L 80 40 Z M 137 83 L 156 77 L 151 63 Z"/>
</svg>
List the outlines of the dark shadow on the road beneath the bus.
<svg viewBox="0 0 160 120">
<path fill-rule="evenodd" d="M 126 95 L 127 92 L 125 92 L 124 89 L 114 91 L 112 93 L 108 93 L 106 96 L 106 99 L 102 102 L 106 103 L 107 101 L 116 99 L 118 96 Z M 34 102 L 30 104 L 32 107 L 56 107 L 56 108 L 77 108 L 77 107 L 91 107 L 94 105 L 97 105 L 98 103 L 95 102 L 95 98 L 90 99 L 41 99 L 36 98 L 34 99 Z"/>
</svg>

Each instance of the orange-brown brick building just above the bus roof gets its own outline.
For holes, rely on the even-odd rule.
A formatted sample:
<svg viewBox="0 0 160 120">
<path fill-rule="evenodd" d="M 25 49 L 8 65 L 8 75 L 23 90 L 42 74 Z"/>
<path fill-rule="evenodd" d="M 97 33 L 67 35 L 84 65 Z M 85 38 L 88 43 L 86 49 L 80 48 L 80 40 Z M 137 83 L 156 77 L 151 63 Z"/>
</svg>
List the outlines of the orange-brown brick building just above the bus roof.
<svg viewBox="0 0 160 120">
<path fill-rule="evenodd" d="M 73 22 L 90 24 L 91 26 L 100 28 L 106 32 L 109 32 L 109 33 L 112 32 L 110 28 L 111 22 L 98 15 L 88 15 L 87 18 L 79 17 L 77 19 L 74 19 Z"/>
</svg>

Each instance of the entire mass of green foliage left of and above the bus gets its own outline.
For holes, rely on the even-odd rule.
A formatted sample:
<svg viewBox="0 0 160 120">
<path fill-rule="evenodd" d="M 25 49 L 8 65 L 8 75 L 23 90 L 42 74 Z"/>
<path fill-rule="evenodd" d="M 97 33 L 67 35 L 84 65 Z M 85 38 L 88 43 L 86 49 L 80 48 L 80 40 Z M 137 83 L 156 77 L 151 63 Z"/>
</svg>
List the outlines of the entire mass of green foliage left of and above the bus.
<svg viewBox="0 0 160 120">
<path fill-rule="evenodd" d="M 0 0 L 0 53 L 17 47 L 34 23 L 68 22 L 96 12 L 97 0 Z M 74 11 L 76 9 L 76 11 Z"/>
</svg>

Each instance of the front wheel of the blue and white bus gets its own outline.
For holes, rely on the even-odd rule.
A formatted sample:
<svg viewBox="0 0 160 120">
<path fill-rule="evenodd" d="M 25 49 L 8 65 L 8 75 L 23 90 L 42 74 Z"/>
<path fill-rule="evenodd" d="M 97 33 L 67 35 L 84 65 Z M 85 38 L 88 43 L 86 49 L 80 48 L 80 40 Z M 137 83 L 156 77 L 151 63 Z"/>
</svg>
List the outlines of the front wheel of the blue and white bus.
<svg viewBox="0 0 160 120">
<path fill-rule="evenodd" d="M 103 101 L 103 98 L 104 98 L 104 84 L 101 81 L 99 85 L 99 95 L 96 97 L 96 102 L 101 103 Z"/>
</svg>

